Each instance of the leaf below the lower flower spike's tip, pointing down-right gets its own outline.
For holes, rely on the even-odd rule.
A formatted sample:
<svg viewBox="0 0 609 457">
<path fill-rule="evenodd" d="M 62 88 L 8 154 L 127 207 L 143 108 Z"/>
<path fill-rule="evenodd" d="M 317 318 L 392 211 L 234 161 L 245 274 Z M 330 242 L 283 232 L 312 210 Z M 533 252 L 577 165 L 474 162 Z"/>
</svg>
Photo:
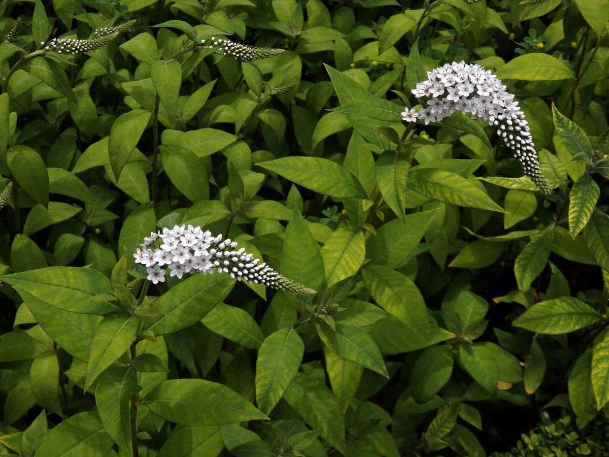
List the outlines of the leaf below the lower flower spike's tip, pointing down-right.
<svg viewBox="0 0 609 457">
<path fill-rule="evenodd" d="M 323 344 L 333 352 L 389 378 L 381 352 L 364 329 L 349 322 L 336 322 L 336 330 L 322 324 L 315 328 Z"/>
</svg>

